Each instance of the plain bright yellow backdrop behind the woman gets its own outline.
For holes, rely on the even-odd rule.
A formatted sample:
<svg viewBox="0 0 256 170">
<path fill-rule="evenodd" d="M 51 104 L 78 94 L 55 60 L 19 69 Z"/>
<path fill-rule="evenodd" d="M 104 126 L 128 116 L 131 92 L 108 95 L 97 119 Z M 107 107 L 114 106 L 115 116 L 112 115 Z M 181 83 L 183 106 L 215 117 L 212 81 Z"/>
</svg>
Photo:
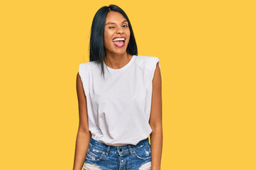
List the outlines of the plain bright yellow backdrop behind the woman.
<svg viewBox="0 0 256 170">
<path fill-rule="evenodd" d="M 199 0 L 1 1 L 0 169 L 72 169 L 78 67 L 109 4 L 160 59 L 162 169 L 256 169 L 255 3 Z"/>
</svg>

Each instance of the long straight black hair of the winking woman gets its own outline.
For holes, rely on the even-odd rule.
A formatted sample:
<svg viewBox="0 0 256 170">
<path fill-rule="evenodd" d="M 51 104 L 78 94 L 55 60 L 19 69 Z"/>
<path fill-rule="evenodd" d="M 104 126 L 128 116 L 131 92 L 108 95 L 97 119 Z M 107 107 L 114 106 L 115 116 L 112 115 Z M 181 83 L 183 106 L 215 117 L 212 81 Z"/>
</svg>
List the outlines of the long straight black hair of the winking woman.
<svg viewBox="0 0 256 170">
<path fill-rule="evenodd" d="M 101 65 L 101 74 L 104 76 L 104 58 L 106 57 L 106 51 L 104 46 L 104 29 L 106 22 L 106 15 L 108 11 L 118 11 L 128 21 L 128 27 L 130 29 L 130 40 L 126 49 L 126 52 L 130 55 L 138 55 L 137 45 L 133 34 L 133 28 L 130 24 L 129 18 L 126 13 L 120 7 L 116 5 L 103 6 L 96 12 L 91 24 L 91 38 L 90 38 L 90 61 L 96 61 Z"/>
</svg>

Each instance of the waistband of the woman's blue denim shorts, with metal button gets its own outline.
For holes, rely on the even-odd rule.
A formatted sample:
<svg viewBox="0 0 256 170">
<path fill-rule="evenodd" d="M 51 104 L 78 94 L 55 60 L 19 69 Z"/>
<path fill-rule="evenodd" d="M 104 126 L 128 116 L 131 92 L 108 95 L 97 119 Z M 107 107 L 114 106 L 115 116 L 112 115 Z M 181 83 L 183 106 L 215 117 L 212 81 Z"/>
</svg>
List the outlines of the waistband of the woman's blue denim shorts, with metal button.
<svg viewBox="0 0 256 170">
<path fill-rule="evenodd" d="M 140 140 L 140 142 L 138 142 L 137 145 L 121 145 L 121 146 L 106 145 L 103 142 L 94 140 L 92 137 L 89 142 L 90 147 L 104 151 L 104 152 L 106 152 L 106 155 L 108 155 L 108 152 L 111 152 L 113 154 L 116 154 L 116 152 L 119 152 L 121 154 L 130 152 L 130 154 L 133 154 L 134 150 L 136 150 L 140 147 L 143 147 L 145 145 L 148 145 L 148 144 L 150 144 L 148 137 L 145 140 Z"/>
</svg>

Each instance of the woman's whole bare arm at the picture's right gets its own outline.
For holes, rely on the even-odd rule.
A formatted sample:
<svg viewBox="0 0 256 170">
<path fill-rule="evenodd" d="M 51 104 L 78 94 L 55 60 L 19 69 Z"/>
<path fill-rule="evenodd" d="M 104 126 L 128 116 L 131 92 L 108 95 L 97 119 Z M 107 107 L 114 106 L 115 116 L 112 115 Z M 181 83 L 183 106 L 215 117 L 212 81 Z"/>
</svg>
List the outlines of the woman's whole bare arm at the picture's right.
<svg viewBox="0 0 256 170">
<path fill-rule="evenodd" d="M 152 103 L 150 113 L 151 169 L 160 170 L 162 158 L 162 81 L 160 67 L 156 66 L 152 80 Z"/>
</svg>

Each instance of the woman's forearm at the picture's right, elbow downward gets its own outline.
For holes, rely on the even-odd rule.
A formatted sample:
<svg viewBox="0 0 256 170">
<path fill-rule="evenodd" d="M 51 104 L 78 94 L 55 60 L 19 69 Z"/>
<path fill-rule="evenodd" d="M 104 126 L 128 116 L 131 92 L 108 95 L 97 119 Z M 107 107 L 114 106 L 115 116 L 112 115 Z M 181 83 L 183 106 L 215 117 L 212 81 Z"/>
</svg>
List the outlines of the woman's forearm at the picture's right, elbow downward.
<svg viewBox="0 0 256 170">
<path fill-rule="evenodd" d="M 160 170 L 162 159 L 162 127 L 152 128 L 150 134 L 151 169 Z"/>
</svg>

